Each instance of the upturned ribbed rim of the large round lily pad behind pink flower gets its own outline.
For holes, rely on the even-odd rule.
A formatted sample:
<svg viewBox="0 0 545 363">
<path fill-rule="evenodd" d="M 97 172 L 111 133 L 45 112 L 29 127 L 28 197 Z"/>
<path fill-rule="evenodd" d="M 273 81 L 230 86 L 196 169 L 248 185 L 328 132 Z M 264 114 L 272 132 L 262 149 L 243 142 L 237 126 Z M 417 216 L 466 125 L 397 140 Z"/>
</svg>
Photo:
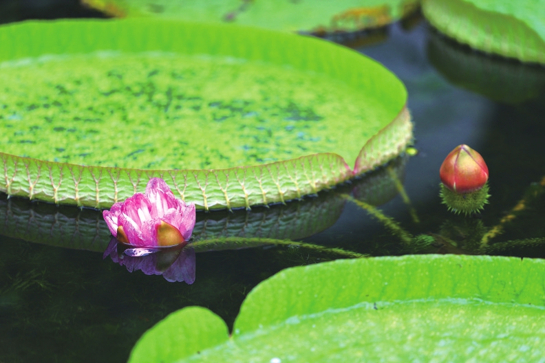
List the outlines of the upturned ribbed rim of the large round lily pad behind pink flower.
<svg viewBox="0 0 545 363">
<path fill-rule="evenodd" d="M 61 41 L 50 41 L 52 33 L 61 36 Z M 395 110 L 392 115 L 396 114 L 392 120 L 385 120 L 383 129 L 365 142 L 353 170 L 335 153 L 227 169 L 143 170 L 66 164 L 0 152 L 0 191 L 8 195 L 109 208 L 136 192 L 143 192 L 151 177 L 160 177 L 177 197 L 195 203 L 197 209 L 250 208 L 284 203 L 332 188 L 385 164 L 412 141 L 412 122 L 403 83 L 370 58 L 318 39 L 230 25 L 131 19 L 4 25 L 0 27 L 0 43 L 3 45 L 0 63 L 44 54 L 88 54 L 98 50 L 209 54 L 212 48 L 214 54 L 221 56 L 257 61 L 273 58 L 279 64 L 328 74 L 352 87 L 370 87 L 388 104 L 390 111 Z M 263 44 L 266 47 L 259 47 Z M 286 48 L 303 52 L 275 52 Z M 311 62 L 312 57 L 317 61 Z"/>
</svg>

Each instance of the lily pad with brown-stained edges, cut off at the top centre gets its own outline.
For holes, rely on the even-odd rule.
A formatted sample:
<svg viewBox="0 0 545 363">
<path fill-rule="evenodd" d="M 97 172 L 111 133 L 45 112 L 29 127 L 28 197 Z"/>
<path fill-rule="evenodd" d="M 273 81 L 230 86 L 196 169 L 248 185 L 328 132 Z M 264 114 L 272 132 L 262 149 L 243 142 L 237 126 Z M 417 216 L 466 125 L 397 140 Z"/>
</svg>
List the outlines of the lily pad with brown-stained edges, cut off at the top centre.
<svg viewBox="0 0 545 363">
<path fill-rule="evenodd" d="M 112 17 L 237 23 L 288 32 L 355 32 L 397 21 L 418 0 L 83 0 Z"/>
</svg>

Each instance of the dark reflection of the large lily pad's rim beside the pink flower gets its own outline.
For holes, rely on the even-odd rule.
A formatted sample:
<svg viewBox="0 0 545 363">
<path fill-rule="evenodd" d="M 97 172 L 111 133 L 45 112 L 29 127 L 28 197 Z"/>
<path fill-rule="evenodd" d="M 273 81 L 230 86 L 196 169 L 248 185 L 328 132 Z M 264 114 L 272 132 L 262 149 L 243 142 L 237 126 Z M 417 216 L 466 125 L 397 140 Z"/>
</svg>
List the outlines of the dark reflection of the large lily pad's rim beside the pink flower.
<svg viewBox="0 0 545 363">
<path fill-rule="evenodd" d="M 396 196 L 397 179 L 403 179 L 406 157 L 399 157 L 391 169 L 379 168 L 355 179 L 351 184 L 318 197 L 294 201 L 270 208 L 253 208 L 197 213 L 193 229 L 195 252 L 248 248 L 283 241 L 298 241 L 332 226 L 343 212 L 346 199 L 341 193 L 350 193 L 358 199 L 385 203 Z M 54 206 L 34 203 L 22 198 L 7 199 L 0 195 L 0 234 L 24 241 L 55 245 L 76 250 L 103 253 L 111 239 L 102 213 L 90 208 Z"/>
</svg>

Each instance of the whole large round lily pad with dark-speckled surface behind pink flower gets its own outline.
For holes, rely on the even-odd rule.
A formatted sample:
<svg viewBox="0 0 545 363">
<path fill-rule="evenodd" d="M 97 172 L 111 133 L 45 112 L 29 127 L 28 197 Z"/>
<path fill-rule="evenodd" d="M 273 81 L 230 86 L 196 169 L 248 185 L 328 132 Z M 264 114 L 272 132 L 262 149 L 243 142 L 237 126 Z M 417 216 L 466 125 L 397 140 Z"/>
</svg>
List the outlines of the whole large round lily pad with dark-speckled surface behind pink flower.
<svg viewBox="0 0 545 363">
<path fill-rule="evenodd" d="M 317 39 L 133 19 L 8 25 L 0 44 L 8 195 L 107 208 L 162 177 L 197 208 L 249 208 L 372 170 L 412 138 L 403 83 Z"/>
</svg>

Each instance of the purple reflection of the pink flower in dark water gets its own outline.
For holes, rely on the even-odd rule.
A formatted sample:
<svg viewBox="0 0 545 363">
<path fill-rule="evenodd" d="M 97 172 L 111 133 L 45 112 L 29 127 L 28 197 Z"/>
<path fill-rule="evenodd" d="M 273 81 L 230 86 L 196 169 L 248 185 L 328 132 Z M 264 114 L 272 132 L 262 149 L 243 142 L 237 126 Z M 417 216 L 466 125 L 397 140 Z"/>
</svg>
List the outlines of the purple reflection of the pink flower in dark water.
<svg viewBox="0 0 545 363">
<path fill-rule="evenodd" d="M 112 238 L 103 258 L 125 265 L 129 272 L 141 270 L 147 275 L 162 275 L 173 282 L 195 282 L 195 250 L 185 245 L 168 248 L 131 248 Z"/>
</svg>

